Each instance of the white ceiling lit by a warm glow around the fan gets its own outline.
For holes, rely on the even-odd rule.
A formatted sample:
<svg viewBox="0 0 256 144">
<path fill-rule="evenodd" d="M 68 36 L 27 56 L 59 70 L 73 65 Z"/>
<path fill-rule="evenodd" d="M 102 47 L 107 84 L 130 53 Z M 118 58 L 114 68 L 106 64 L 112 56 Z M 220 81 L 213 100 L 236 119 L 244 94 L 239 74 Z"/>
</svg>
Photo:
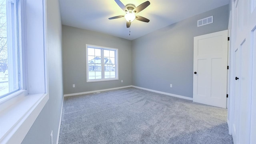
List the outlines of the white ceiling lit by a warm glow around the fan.
<svg viewBox="0 0 256 144">
<path fill-rule="evenodd" d="M 147 0 L 120 0 L 124 5 L 138 6 Z M 126 28 L 126 20 L 113 16 L 125 12 L 114 0 L 60 0 L 62 24 L 86 30 L 102 32 L 134 40 L 170 24 L 228 4 L 229 0 L 149 0 L 150 5 L 137 15 L 150 22 L 134 20 Z M 131 35 L 129 36 L 129 30 Z"/>
</svg>

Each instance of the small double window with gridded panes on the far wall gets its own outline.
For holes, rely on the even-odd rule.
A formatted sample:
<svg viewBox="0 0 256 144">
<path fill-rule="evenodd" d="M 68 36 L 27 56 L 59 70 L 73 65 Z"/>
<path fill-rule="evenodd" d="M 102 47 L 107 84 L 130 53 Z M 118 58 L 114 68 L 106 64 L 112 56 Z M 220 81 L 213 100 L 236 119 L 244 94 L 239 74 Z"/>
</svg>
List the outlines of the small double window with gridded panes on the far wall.
<svg viewBox="0 0 256 144">
<path fill-rule="evenodd" d="M 86 82 L 118 80 L 118 49 L 86 44 Z"/>
</svg>

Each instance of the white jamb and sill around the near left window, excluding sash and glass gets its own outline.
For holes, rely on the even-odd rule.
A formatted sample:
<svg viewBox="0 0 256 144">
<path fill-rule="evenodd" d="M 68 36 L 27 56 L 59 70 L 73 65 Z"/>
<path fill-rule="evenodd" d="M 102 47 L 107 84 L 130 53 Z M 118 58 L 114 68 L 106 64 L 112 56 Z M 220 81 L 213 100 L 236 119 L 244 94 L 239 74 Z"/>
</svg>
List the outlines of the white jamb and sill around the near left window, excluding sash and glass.
<svg viewBox="0 0 256 144">
<path fill-rule="evenodd" d="M 21 143 L 49 100 L 46 0 L 17 2 L 20 90 L 0 99 L 0 144 Z"/>
</svg>

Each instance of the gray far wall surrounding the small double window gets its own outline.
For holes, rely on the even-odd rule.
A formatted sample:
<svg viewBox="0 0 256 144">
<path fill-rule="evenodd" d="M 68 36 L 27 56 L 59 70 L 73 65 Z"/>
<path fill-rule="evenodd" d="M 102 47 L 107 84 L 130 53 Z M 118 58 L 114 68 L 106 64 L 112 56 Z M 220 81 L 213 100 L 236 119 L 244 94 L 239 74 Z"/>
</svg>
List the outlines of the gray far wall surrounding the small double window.
<svg viewBox="0 0 256 144">
<path fill-rule="evenodd" d="M 86 83 L 86 44 L 118 49 L 119 80 Z M 62 26 L 64 94 L 88 92 L 132 84 L 132 42 L 80 28 Z M 123 80 L 123 83 L 121 83 Z M 76 87 L 72 88 L 72 84 Z"/>
</svg>

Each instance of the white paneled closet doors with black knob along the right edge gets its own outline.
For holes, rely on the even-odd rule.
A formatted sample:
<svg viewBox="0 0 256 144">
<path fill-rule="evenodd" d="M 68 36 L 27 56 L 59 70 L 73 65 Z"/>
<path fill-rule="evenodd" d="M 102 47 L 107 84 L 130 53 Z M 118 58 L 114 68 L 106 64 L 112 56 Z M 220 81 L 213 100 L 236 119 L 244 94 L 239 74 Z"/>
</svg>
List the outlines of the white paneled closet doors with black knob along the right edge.
<svg viewBox="0 0 256 144">
<path fill-rule="evenodd" d="M 256 0 L 232 1 L 229 124 L 234 144 L 256 144 Z"/>
</svg>

